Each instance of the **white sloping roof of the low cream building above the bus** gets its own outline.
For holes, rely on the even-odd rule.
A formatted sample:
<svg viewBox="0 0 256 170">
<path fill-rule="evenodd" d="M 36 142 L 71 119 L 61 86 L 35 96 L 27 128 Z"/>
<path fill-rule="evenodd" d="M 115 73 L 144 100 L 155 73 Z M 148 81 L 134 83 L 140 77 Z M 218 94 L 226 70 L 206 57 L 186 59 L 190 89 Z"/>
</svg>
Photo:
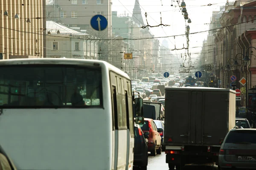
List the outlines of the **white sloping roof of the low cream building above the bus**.
<svg viewBox="0 0 256 170">
<path fill-rule="evenodd" d="M 46 31 L 50 31 L 51 34 L 58 34 L 57 31 L 59 31 L 59 35 L 89 35 L 73 30 L 70 27 L 64 26 L 60 23 L 55 23 L 54 21 L 46 21 Z"/>
</svg>

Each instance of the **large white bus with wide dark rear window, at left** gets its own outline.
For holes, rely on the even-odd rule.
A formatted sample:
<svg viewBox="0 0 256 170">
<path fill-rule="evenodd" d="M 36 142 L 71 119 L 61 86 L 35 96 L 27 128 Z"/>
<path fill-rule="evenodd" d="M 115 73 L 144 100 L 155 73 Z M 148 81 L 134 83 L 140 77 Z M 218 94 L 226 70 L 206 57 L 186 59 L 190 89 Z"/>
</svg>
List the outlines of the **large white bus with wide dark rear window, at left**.
<svg viewBox="0 0 256 170">
<path fill-rule="evenodd" d="M 131 79 L 99 60 L 0 61 L 0 144 L 21 170 L 132 170 Z"/>
</svg>

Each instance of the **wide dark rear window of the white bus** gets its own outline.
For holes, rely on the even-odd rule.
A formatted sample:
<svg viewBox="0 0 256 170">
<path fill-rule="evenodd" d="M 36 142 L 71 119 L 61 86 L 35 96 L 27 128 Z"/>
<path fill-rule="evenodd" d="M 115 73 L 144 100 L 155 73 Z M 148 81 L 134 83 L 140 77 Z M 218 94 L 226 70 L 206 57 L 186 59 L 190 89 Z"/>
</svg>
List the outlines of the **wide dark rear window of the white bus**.
<svg viewBox="0 0 256 170">
<path fill-rule="evenodd" d="M 0 68 L 0 108 L 102 105 L 99 67 L 8 65 Z"/>
</svg>

